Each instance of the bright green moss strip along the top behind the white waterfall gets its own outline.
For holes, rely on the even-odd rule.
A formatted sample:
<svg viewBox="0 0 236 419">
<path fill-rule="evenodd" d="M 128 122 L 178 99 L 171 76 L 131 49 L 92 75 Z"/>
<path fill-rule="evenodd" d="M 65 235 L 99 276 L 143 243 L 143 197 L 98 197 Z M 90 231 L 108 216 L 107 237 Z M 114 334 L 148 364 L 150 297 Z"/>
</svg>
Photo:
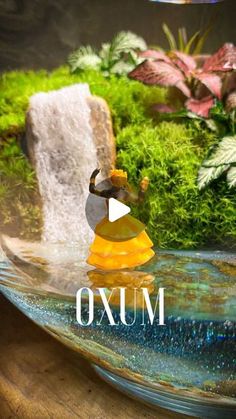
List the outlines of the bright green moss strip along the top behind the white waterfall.
<svg viewBox="0 0 236 419">
<path fill-rule="evenodd" d="M 100 72 L 69 73 L 61 67 L 52 73 L 9 72 L 0 79 L 0 135 L 7 130 L 23 129 L 25 111 L 34 93 L 56 90 L 74 83 L 89 83 L 94 95 L 103 97 L 109 104 L 115 131 L 129 123 L 141 123 L 146 119 L 148 105 L 165 100 L 165 90 L 147 87 L 126 77 L 105 78 Z"/>
</svg>

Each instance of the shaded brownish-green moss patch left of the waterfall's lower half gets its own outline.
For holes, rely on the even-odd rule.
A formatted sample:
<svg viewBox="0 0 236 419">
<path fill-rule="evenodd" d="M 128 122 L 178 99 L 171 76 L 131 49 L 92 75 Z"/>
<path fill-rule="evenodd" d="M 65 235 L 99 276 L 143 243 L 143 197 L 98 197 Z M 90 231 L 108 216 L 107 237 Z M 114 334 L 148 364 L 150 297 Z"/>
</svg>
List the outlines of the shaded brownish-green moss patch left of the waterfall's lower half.
<svg viewBox="0 0 236 419">
<path fill-rule="evenodd" d="M 42 220 L 35 173 L 17 139 L 10 136 L 1 146 L 0 228 L 15 235 L 40 233 Z"/>
</svg>

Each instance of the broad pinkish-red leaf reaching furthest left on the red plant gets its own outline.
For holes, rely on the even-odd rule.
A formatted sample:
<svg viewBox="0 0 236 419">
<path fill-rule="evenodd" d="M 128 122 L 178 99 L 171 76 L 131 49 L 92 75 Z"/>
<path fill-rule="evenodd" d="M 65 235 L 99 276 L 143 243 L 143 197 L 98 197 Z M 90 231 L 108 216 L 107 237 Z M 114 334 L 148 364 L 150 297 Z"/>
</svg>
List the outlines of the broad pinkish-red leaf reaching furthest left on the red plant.
<svg viewBox="0 0 236 419">
<path fill-rule="evenodd" d="M 133 71 L 129 73 L 129 77 L 139 80 L 144 84 L 160 85 L 160 86 L 175 86 L 185 96 L 190 97 L 191 92 L 185 84 L 185 77 L 171 64 L 164 61 L 144 61 L 139 64 Z"/>
</svg>

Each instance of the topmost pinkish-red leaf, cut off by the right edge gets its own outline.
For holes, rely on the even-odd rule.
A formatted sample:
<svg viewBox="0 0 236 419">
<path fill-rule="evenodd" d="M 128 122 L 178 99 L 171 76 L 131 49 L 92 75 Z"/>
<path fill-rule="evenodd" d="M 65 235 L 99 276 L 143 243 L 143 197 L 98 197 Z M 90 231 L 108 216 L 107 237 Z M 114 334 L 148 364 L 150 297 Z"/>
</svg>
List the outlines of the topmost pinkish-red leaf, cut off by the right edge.
<svg viewBox="0 0 236 419">
<path fill-rule="evenodd" d="M 203 66 L 203 71 L 231 71 L 236 70 L 236 47 L 224 44 L 215 54 L 209 57 Z"/>
</svg>

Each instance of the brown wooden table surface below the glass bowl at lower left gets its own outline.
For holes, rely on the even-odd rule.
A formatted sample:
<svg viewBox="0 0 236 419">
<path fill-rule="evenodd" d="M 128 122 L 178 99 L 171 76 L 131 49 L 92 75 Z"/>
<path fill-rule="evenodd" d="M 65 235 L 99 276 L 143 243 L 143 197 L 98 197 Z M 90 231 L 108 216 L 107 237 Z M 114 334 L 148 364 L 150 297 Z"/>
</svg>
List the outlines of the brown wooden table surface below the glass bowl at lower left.
<svg viewBox="0 0 236 419">
<path fill-rule="evenodd" d="M 110 387 L 2 295 L 0 321 L 0 418 L 187 418 Z"/>
</svg>

